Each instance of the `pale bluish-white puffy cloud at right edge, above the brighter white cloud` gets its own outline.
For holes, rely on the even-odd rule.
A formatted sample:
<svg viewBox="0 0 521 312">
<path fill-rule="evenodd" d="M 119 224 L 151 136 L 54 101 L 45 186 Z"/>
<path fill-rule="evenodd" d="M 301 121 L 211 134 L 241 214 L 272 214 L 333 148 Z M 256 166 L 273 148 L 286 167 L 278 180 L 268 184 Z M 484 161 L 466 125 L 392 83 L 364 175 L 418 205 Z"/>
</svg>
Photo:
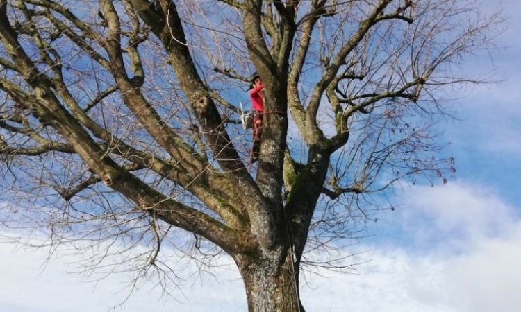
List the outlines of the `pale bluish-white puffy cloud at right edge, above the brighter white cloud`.
<svg viewBox="0 0 521 312">
<path fill-rule="evenodd" d="M 517 224 L 515 209 L 493 189 L 452 182 L 443 187 L 415 187 L 404 198 L 403 226 L 420 239 L 443 238 L 468 245 L 483 237 L 508 234 Z M 418 220 L 429 219 L 429 227 Z"/>
</svg>

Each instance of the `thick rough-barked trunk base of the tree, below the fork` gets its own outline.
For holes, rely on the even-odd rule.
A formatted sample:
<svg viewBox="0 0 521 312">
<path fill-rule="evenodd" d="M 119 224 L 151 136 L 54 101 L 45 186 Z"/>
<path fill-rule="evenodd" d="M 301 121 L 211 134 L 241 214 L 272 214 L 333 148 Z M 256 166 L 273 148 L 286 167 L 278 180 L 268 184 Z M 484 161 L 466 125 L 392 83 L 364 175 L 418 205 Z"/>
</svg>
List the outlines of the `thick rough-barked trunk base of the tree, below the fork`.
<svg viewBox="0 0 521 312">
<path fill-rule="evenodd" d="M 235 257 L 235 261 L 245 283 L 249 312 L 304 312 L 299 268 L 295 268 L 291 252 Z"/>
</svg>

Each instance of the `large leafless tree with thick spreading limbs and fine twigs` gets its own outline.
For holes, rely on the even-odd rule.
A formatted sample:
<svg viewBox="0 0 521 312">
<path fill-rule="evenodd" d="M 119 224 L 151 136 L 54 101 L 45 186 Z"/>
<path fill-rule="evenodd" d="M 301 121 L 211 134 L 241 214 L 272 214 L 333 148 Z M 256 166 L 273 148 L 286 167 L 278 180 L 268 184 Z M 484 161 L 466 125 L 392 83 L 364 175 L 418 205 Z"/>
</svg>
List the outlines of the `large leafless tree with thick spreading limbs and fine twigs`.
<svg viewBox="0 0 521 312">
<path fill-rule="evenodd" d="M 1 220 L 144 250 L 133 268 L 165 288 L 161 246 L 225 252 L 249 311 L 304 311 L 301 268 L 347 266 L 336 251 L 395 182 L 454 171 L 435 126 L 502 24 L 459 0 L 0 0 L 1 189 L 18 198 Z"/>
</svg>

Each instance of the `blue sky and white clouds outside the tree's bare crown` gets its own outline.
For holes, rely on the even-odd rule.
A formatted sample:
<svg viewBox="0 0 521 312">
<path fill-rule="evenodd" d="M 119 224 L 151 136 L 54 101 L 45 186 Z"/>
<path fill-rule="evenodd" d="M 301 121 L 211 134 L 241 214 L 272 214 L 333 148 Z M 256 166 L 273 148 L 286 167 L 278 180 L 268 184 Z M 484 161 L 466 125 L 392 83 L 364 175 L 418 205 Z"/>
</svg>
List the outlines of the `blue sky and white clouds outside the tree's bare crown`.
<svg viewBox="0 0 521 312">
<path fill-rule="evenodd" d="M 379 217 L 354 250 L 356 270 L 307 273 L 307 311 L 514 312 L 521 306 L 521 2 L 508 8 L 499 46 L 469 61 L 490 67 L 499 83 L 461 91 L 458 121 L 443 139 L 456 157 L 446 185 L 404 187 L 395 211 Z M 51 257 L 0 240 L 0 310 L 6 312 L 246 311 L 233 266 L 181 285 L 164 297 L 144 283 L 128 294 L 124 275 L 97 283 L 74 275 L 74 256 Z M 229 263 L 222 259 L 223 263 Z M 73 264 L 71 264 L 73 263 Z M 173 263 L 176 266 L 176 263 Z M 181 270 L 181 268 L 179 268 Z M 123 291 L 122 291 L 123 289 Z"/>
</svg>

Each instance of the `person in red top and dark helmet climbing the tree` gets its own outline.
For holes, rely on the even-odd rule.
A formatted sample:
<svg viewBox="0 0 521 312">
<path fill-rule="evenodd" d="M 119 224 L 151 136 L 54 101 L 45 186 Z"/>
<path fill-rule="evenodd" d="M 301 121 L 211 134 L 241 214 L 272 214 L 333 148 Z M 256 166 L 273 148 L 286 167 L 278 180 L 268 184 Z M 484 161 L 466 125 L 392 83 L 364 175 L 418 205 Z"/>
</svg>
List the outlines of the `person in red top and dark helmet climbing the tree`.
<svg viewBox="0 0 521 312">
<path fill-rule="evenodd" d="M 249 89 L 249 98 L 251 99 L 251 107 L 254 110 L 253 128 L 254 128 L 254 146 L 251 150 L 249 162 L 256 162 L 261 153 L 261 136 L 264 114 L 264 84 L 258 73 L 251 76 L 251 86 Z"/>
</svg>

